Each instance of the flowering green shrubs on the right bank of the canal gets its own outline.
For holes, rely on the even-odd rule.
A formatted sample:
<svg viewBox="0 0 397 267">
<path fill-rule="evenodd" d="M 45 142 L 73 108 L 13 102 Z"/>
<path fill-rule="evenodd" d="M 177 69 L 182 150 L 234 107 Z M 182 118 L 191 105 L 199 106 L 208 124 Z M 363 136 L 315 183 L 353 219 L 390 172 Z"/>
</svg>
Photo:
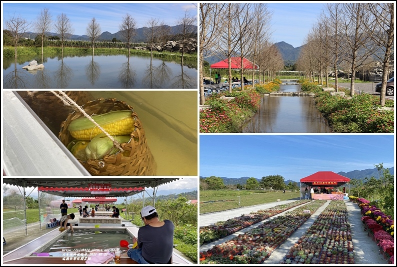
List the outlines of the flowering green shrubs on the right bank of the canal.
<svg viewBox="0 0 397 267">
<path fill-rule="evenodd" d="M 392 133 L 394 132 L 394 111 L 379 111 L 379 98 L 369 94 L 353 97 L 331 96 L 323 92 L 316 83 L 299 80 L 302 91 L 315 94 L 319 112 L 334 132 L 339 133 Z M 339 89 L 346 96 L 349 90 Z M 394 107 L 394 101 L 386 99 L 384 107 Z"/>
</svg>

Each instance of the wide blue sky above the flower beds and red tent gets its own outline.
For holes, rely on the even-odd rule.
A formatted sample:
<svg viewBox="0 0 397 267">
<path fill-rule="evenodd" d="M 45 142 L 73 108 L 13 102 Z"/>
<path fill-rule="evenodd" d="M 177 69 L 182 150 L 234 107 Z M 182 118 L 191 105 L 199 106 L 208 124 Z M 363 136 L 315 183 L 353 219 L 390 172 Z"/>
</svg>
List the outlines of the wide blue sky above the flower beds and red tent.
<svg viewBox="0 0 397 267">
<path fill-rule="evenodd" d="M 394 166 L 393 135 L 200 135 L 203 177 L 281 175 L 298 182 L 317 171 L 335 173 Z"/>
</svg>

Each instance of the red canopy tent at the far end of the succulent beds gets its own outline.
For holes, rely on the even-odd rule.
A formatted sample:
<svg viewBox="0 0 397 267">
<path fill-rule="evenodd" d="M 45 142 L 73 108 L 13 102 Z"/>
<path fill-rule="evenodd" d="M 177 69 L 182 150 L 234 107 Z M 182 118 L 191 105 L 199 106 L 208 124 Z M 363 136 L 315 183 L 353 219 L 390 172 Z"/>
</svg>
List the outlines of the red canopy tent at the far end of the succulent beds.
<svg viewBox="0 0 397 267">
<path fill-rule="evenodd" d="M 344 185 L 350 181 L 349 178 L 344 177 L 340 174 L 334 173 L 332 171 L 318 171 L 314 174 L 306 176 L 300 179 L 300 192 L 302 192 L 302 184 L 309 187 L 332 187 L 337 188 Z M 345 189 L 343 189 L 345 190 Z M 300 194 L 302 196 L 302 193 Z M 314 195 L 318 196 L 318 195 Z M 320 196 L 318 196 L 320 197 Z M 336 196 L 328 195 L 327 197 L 321 196 L 321 199 L 336 199 Z M 339 197 L 340 198 L 340 197 Z M 316 198 L 314 198 L 316 199 Z M 342 198 L 343 199 L 343 198 Z"/>
</svg>

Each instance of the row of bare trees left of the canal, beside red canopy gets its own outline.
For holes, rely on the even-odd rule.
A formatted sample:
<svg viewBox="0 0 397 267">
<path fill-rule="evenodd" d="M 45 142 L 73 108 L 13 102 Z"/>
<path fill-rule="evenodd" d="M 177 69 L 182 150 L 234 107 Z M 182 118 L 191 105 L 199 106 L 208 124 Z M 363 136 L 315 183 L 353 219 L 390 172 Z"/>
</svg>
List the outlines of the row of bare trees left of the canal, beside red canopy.
<svg viewBox="0 0 397 267">
<path fill-rule="evenodd" d="M 252 79 L 256 72 L 281 69 L 284 64 L 278 49 L 269 42 L 271 12 L 264 3 L 200 3 L 199 77 L 200 104 L 204 104 L 203 62 L 210 56 L 228 60 L 228 82 L 231 92 L 231 58 L 237 57 L 241 80 L 244 77 L 244 59 L 252 62 Z M 257 67 L 257 69 L 256 69 Z M 256 69 L 256 70 L 255 70 Z M 241 88 L 244 83 L 241 81 Z"/>
</svg>

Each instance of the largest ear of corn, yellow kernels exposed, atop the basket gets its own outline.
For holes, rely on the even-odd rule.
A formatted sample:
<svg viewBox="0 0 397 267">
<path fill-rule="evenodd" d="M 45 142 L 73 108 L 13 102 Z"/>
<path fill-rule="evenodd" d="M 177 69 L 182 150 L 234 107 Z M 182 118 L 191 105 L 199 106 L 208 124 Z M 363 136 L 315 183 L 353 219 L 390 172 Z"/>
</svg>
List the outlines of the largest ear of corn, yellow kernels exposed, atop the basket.
<svg viewBox="0 0 397 267">
<path fill-rule="evenodd" d="M 92 115 L 91 118 L 110 135 L 122 136 L 129 135 L 134 129 L 135 119 L 131 117 L 131 114 L 131 110 L 119 110 Z M 67 129 L 77 140 L 91 140 L 94 136 L 103 133 L 85 117 L 71 121 Z"/>
</svg>

